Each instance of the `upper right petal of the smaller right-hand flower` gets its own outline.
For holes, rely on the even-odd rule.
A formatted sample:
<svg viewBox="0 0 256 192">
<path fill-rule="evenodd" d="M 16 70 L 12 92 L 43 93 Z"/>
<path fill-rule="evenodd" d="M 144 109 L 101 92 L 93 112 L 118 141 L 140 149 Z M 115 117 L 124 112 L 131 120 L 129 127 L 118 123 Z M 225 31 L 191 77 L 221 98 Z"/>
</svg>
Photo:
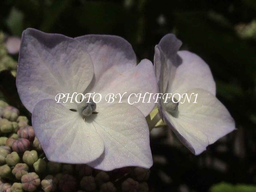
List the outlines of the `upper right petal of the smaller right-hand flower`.
<svg viewBox="0 0 256 192">
<path fill-rule="evenodd" d="M 200 88 L 216 94 L 215 81 L 209 66 L 198 55 L 189 51 L 179 51 L 182 64 L 177 67 L 175 78 L 168 85 L 169 93 L 186 93 Z"/>
</svg>

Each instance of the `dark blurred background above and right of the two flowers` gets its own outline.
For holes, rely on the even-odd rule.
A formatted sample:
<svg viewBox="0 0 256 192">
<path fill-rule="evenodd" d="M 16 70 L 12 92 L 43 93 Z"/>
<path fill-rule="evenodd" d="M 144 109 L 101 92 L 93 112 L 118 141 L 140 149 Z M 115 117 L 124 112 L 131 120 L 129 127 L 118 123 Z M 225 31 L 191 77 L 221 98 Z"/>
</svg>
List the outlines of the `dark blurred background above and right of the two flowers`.
<svg viewBox="0 0 256 192">
<path fill-rule="evenodd" d="M 163 35 L 175 33 L 183 41 L 182 49 L 209 64 L 217 97 L 238 129 L 199 156 L 168 129 L 154 130 L 151 191 L 206 192 L 222 181 L 256 182 L 255 0 L 1 0 L 0 31 L 21 36 L 27 27 L 70 37 L 119 35 L 132 44 L 138 60 L 151 61 Z M 12 57 L 17 60 L 17 55 Z M 1 84 L 4 78 L 2 74 Z M 244 186 L 240 191 L 255 188 Z"/>
</svg>

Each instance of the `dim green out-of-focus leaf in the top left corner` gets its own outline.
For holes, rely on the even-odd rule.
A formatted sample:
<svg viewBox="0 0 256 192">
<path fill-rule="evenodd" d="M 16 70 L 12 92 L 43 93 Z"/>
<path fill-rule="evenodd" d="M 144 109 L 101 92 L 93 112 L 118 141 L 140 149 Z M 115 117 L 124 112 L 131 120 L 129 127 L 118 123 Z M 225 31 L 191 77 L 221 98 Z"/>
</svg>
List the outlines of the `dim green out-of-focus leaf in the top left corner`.
<svg viewBox="0 0 256 192">
<path fill-rule="evenodd" d="M 8 18 L 6 19 L 6 25 L 12 32 L 12 35 L 20 36 L 23 31 L 24 15 L 14 7 L 11 9 Z"/>
</svg>

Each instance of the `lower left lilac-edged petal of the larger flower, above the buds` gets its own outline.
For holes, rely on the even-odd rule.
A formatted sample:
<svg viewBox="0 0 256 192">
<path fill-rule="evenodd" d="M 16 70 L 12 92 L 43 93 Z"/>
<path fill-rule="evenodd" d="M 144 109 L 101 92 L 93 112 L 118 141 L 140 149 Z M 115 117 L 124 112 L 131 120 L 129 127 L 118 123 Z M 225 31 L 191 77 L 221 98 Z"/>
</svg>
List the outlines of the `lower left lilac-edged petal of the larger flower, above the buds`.
<svg viewBox="0 0 256 192">
<path fill-rule="evenodd" d="M 32 113 L 35 135 L 48 160 L 60 163 L 88 163 L 104 151 L 102 138 L 91 122 L 55 100 L 45 99 Z"/>
</svg>

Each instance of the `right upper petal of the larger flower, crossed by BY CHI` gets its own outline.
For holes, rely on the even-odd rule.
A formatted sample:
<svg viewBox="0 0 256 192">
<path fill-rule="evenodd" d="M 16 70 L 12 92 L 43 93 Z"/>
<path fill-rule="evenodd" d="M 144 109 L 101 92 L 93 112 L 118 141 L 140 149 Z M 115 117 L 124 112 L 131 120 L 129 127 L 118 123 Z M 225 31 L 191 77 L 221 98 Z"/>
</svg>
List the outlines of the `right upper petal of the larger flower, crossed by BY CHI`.
<svg viewBox="0 0 256 192">
<path fill-rule="evenodd" d="M 134 103 L 133 105 L 147 116 L 155 106 L 152 95 L 157 93 L 157 90 L 158 87 L 153 65 L 151 61 L 143 59 L 134 67 L 126 69 L 124 69 L 122 65 L 111 67 L 102 75 L 91 92 L 100 93 L 102 95 L 102 102 L 97 104 L 97 111 L 113 103 L 130 102 L 131 104 Z M 120 95 L 116 96 L 114 102 L 111 103 L 111 100 L 107 102 L 109 93 L 115 95 L 120 93 Z M 142 97 L 145 96 L 144 102 L 143 99 L 139 100 L 140 93 Z M 151 98 L 149 93 L 152 93 Z M 122 96 L 122 99 L 120 96 Z M 98 101 L 99 99 L 95 97 L 95 100 Z"/>
</svg>

